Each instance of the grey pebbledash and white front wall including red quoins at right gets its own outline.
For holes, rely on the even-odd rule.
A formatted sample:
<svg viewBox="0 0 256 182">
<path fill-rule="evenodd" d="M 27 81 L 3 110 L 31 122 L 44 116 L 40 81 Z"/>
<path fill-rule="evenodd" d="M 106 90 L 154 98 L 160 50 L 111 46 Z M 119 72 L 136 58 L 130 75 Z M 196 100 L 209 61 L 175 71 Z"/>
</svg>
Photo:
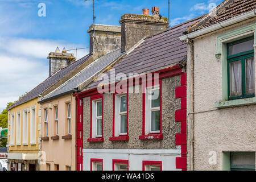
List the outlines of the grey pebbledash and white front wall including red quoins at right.
<svg viewBox="0 0 256 182">
<path fill-rule="evenodd" d="M 180 69 L 181 70 L 181 69 Z M 110 141 L 113 137 L 113 95 L 103 95 L 104 142 L 88 142 L 90 138 L 90 97 L 83 100 L 82 168 L 90 170 L 90 159 L 103 159 L 103 169 L 113 169 L 114 160 L 128 160 L 129 170 L 142 170 L 143 161 L 162 162 L 162 170 L 187 169 L 186 138 L 186 75 L 162 80 L 162 134 L 161 140 L 141 140 L 142 94 L 128 96 L 127 141 Z M 181 146 L 181 147 L 180 147 Z M 181 154 L 182 152 L 182 154 Z"/>
</svg>

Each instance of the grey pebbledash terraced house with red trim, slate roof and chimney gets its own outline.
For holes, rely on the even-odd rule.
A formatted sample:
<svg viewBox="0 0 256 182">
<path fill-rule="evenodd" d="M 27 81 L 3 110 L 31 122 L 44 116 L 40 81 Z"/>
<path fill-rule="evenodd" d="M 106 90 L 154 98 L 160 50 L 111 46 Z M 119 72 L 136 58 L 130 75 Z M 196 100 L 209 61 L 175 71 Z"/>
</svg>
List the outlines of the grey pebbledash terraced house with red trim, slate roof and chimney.
<svg viewBox="0 0 256 182">
<path fill-rule="evenodd" d="M 76 94 L 82 170 L 187 169 L 187 46 L 179 37 L 196 20 L 167 28 L 158 13 L 122 16 L 125 57 Z"/>
</svg>

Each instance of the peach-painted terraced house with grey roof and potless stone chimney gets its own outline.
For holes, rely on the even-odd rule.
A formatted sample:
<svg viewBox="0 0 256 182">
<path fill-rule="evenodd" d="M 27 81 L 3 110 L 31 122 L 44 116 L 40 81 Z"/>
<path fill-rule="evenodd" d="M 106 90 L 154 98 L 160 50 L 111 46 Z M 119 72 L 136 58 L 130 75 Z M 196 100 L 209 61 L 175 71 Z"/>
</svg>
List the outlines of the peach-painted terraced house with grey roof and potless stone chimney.
<svg viewBox="0 0 256 182">
<path fill-rule="evenodd" d="M 45 152 L 46 158 L 43 159 L 41 170 L 80 169 L 81 164 L 77 155 L 80 155 L 81 150 L 76 145 L 76 138 L 77 136 L 80 138 L 81 133 L 77 133 L 77 98 L 73 97 L 73 93 L 84 89 L 97 75 L 122 56 L 120 29 L 119 26 L 96 24 L 95 34 L 90 35 L 92 63 L 86 65 L 84 69 L 52 92 L 42 94 L 39 103 L 43 113 L 42 151 Z M 92 31 L 91 26 L 88 32 Z M 93 41 L 94 37 L 95 41 Z M 98 55 L 101 57 L 94 60 Z M 84 58 L 78 61 L 82 60 Z"/>
</svg>

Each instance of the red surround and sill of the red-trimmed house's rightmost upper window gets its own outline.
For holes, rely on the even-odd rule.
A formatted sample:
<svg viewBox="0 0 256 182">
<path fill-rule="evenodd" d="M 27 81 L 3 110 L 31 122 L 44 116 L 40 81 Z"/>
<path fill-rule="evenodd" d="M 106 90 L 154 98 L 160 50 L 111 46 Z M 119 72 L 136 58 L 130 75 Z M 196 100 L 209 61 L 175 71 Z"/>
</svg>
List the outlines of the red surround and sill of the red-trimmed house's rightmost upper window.
<svg viewBox="0 0 256 182">
<path fill-rule="evenodd" d="M 150 87 L 150 86 L 154 86 L 156 83 L 154 80 L 152 80 L 152 84 L 151 85 L 148 85 L 148 82 L 147 82 L 147 85 L 146 85 L 146 88 Z M 142 135 L 139 136 L 139 139 L 140 140 L 148 140 L 148 139 L 163 139 L 163 134 L 162 134 L 162 79 L 160 78 L 159 79 L 159 92 L 160 92 L 160 133 L 158 134 L 145 134 L 145 125 L 146 125 L 146 122 L 145 122 L 145 112 L 146 112 L 146 104 L 145 104 L 145 97 L 146 97 L 146 94 L 143 93 L 142 94 Z M 143 85 L 143 84 L 142 84 Z M 144 86 L 144 85 L 143 85 Z M 143 90 L 145 90 L 146 88 L 142 88 Z"/>
</svg>

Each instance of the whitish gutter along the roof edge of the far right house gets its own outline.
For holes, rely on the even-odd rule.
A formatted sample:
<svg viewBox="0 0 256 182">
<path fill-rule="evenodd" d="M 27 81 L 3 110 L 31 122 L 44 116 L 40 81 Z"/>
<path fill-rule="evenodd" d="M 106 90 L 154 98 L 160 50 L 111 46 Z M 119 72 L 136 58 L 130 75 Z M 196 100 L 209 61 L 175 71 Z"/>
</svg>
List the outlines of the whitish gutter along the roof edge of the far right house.
<svg viewBox="0 0 256 182">
<path fill-rule="evenodd" d="M 216 30 L 220 30 L 221 28 L 228 27 L 228 26 L 230 26 L 232 24 L 242 22 L 243 20 L 246 20 L 246 19 L 249 19 L 249 18 L 253 18 L 255 16 L 256 16 L 256 9 L 253 10 L 253 11 L 249 11 L 247 13 L 244 13 L 242 15 L 235 16 L 235 17 L 230 18 L 228 20 L 225 20 L 223 22 L 214 24 L 212 26 L 203 28 L 201 30 L 192 32 L 191 34 L 187 34 L 187 35 L 181 36 L 179 39 L 181 41 L 185 41 L 187 39 L 197 38 L 198 36 L 201 36 L 201 35 L 204 35 L 204 34 L 208 34 L 210 32 L 216 31 Z"/>
</svg>

